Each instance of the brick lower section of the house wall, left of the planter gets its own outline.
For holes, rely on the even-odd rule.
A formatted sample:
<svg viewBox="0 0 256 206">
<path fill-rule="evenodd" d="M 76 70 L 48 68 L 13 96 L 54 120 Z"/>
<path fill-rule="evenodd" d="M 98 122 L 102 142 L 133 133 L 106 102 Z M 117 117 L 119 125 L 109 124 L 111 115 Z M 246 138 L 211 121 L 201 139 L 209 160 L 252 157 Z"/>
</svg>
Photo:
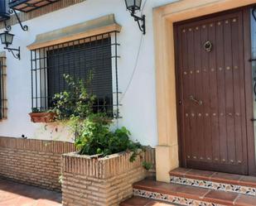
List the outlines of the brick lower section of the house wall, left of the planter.
<svg viewBox="0 0 256 206">
<path fill-rule="evenodd" d="M 60 190 L 61 155 L 71 151 L 69 142 L 0 137 L 0 177 Z"/>
</svg>

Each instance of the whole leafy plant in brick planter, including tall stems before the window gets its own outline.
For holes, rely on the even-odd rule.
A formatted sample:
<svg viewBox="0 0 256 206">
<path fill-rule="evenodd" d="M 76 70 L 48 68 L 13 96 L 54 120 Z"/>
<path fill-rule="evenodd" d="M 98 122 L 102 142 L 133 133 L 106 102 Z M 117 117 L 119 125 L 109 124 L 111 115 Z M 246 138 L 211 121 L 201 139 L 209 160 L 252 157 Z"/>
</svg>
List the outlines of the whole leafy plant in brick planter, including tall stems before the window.
<svg viewBox="0 0 256 206">
<path fill-rule="evenodd" d="M 132 153 L 130 161 L 136 160 L 144 147 L 129 138 L 128 129 L 122 127 L 112 131 L 112 117 L 102 112 L 94 113 L 92 108 L 97 98 L 89 91 L 92 75 L 85 82 L 75 81 L 70 75 L 64 75 L 64 78 L 70 89 L 56 93 L 52 111 L 56 113 L 57 121 L 65 123 L 75 134 L 78 153 L 104 157 L 128 151 Z"/>
</svg>

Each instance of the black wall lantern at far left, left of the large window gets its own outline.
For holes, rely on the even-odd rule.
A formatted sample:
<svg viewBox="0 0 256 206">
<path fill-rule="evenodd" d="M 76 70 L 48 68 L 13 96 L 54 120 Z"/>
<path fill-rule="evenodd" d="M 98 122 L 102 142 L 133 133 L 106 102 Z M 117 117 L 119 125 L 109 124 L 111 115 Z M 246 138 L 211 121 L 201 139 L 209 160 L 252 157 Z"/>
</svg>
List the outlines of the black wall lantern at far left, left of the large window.
<svg viewBox="0 0 256 206">
<path fill-rule="evenodd" d="M 20 47 L 18 49 L 9 48 L 10 45 L 12 45 L 13 41 L 13 34 L 11 34 L 9 31 L 4 31 L 0 34 L 0 39 L 2 42 L 2 45 L 5 45 L 3 49 L 8 50 L 9 52 L 12 52 L 12 55 L 18 59 L 21 60 L 21 49 Z M 16 51 L 16 53 L 14 53 Z"/>
</svg>

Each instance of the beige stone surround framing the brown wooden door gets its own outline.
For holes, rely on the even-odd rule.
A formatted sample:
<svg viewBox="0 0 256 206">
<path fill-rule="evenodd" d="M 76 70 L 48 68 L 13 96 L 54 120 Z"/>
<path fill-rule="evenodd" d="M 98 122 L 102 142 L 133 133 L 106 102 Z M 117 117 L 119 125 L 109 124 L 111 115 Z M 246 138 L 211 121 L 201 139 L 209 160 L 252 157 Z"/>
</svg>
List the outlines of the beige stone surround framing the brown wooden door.
<svg viewBox="0 0 256 206">
<path fill-rule="evenodd" d="M 173 23 L 254 3 L 256 0 L 183 0 L 153 9 L 158 129 L 157 180 L 169 182 L 169 171 L 179 166 Z M 247 54 L 247 57 L 249 55 Z M 250 65 L 247 63 L 245 66 L 249 68 Z M 246 75 L 246 79 L 251 81 L 248 75 Z M 247 89 L 248 93 L 252 90 L 248 87 Z M 248 117 L 252 115 L 249 110 L 246 113 Z M 248 125 L 247 127 L 248 131 L 253 129 L 253 126 Z M 249 133 L 253 134 L 252 131 L 248 132 L 248 136 Z M 252 150 L 252 152 L 254 151 Z M 255 164 L 250 166 L 249 174 L 256 175 Z"/>
</svg>

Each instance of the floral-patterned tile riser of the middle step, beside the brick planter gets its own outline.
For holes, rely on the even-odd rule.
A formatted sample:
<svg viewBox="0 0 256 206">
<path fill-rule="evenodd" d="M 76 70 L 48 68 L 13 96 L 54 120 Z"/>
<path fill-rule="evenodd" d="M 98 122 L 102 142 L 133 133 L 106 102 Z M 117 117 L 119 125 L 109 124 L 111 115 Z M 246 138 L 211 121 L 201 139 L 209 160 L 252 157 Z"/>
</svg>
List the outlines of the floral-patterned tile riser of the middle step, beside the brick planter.
<svg viewBox="0 0 256 206">
<path fill-rule="evenodd" d="M 136 189 L 133 188 L 133 196 L 138 196 L 146 199 L 153 199 L 166 202 L 168 204 L 180 204 L 185 206 L 191 205 L 204 205 L 204 206 L 226 206 L 227 204 L 220 204 L 218 200 L 206 201 L 205 199 L 197 199 L 196 196 L 186 198 L 186 195 L 174 195 L 174 194 L 162 194 L 156 191 L 149 191 L 147 189 Z M 230 202 L 228 205 L 233 205 L 233 202 Z"/>
</svg>

